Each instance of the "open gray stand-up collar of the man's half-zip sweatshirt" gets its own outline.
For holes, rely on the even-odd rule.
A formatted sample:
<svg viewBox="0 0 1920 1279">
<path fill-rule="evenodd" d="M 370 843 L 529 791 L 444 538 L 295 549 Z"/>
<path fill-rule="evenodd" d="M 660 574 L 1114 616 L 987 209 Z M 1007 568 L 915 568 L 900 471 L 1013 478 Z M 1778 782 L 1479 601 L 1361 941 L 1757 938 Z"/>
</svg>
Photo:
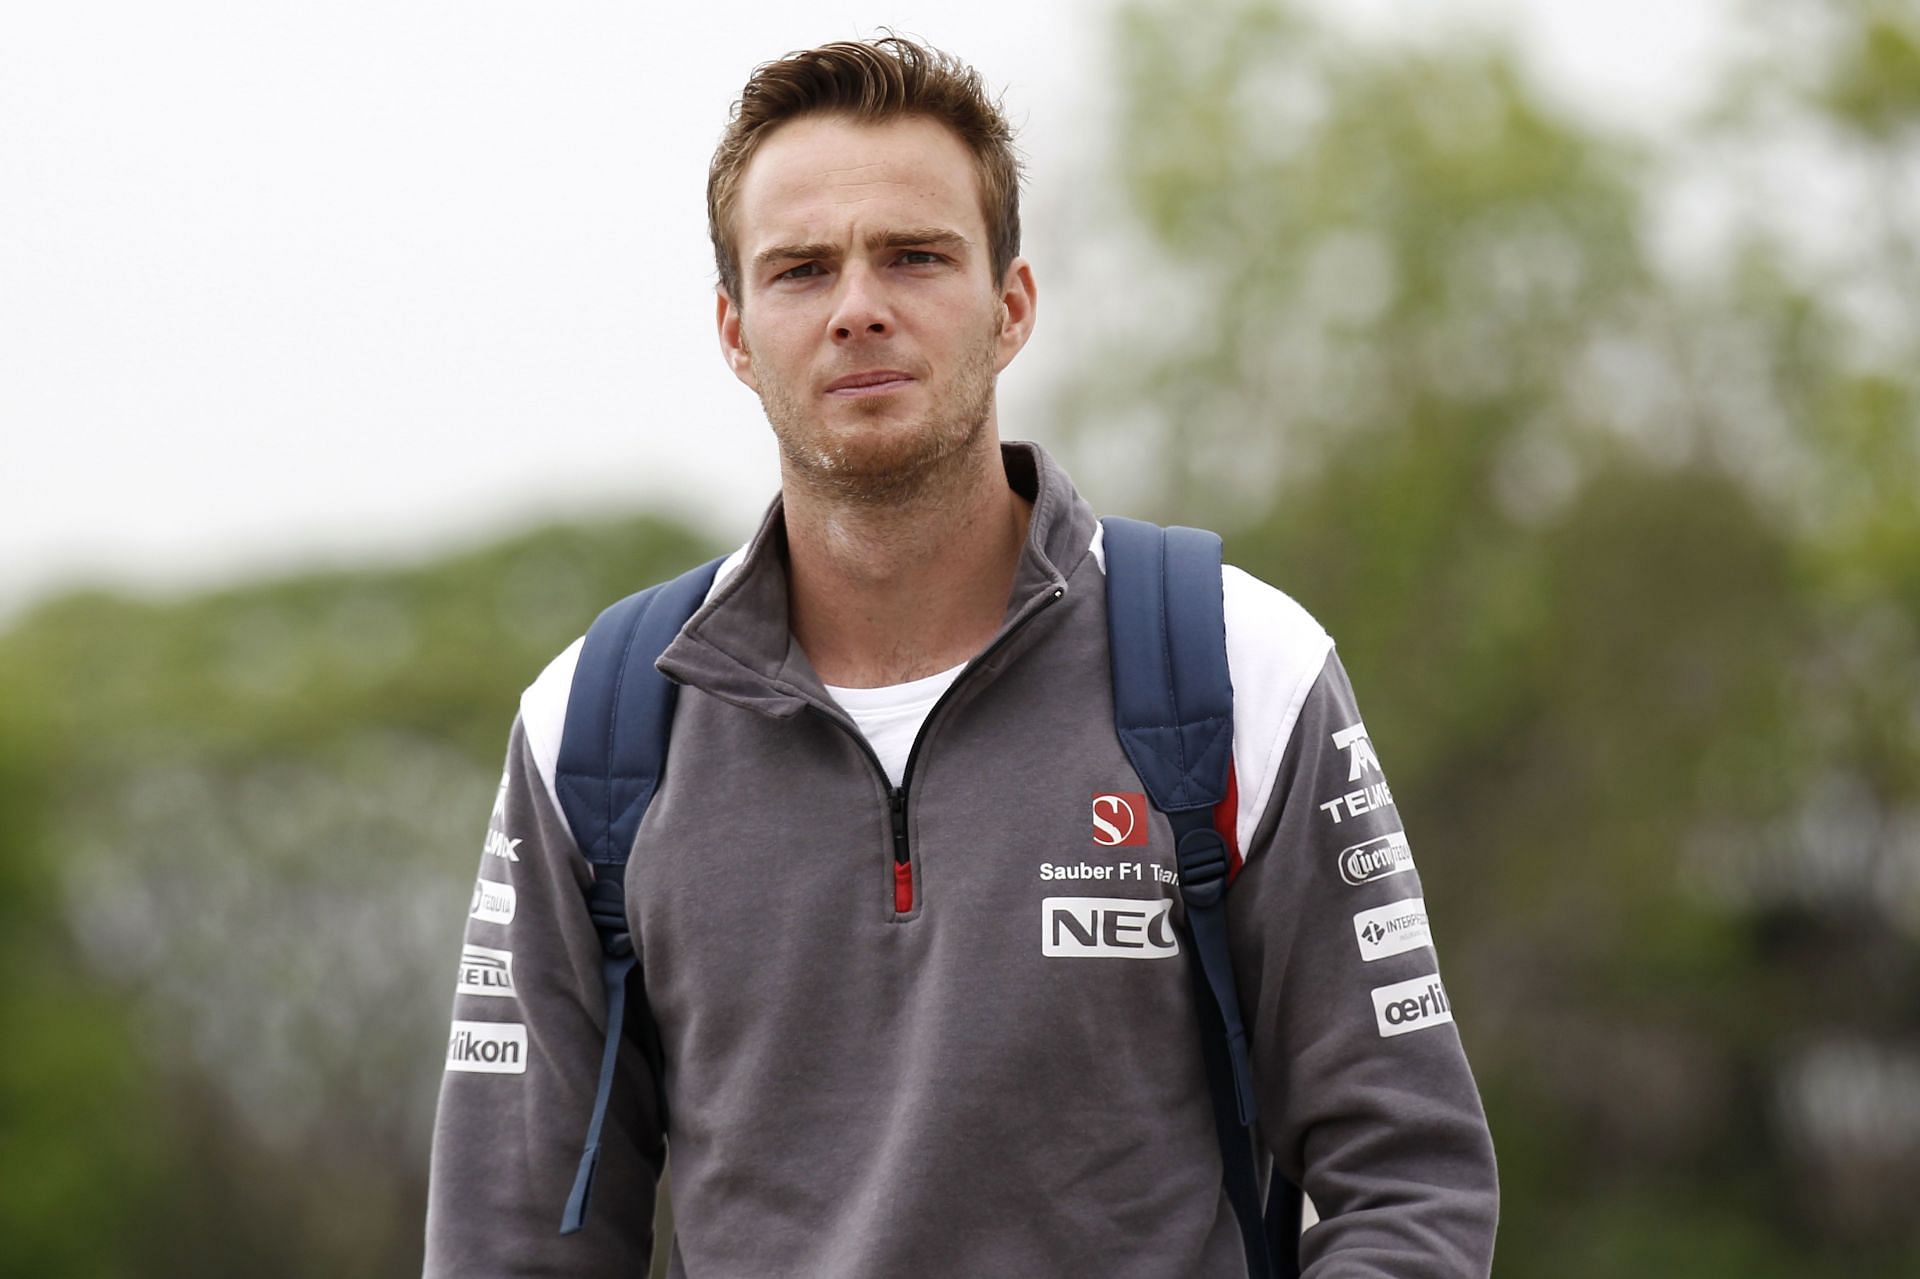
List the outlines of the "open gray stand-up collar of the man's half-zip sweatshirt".
<svg viewBox="0 0 1920 1279">
<path fill-rule="evenodd" d="M 1098 522 L 1046 449 L 1000 444 L 1008 486 L 1033 503 L 1000 630 L 1068 590 Z M 728 557 L 707 603 L 657 663 L 680 684 L 772 716 L 831 705 L 820 676 L 787 626 L 787 524 L 776 495 L 745 553 Z"/>
</svg>

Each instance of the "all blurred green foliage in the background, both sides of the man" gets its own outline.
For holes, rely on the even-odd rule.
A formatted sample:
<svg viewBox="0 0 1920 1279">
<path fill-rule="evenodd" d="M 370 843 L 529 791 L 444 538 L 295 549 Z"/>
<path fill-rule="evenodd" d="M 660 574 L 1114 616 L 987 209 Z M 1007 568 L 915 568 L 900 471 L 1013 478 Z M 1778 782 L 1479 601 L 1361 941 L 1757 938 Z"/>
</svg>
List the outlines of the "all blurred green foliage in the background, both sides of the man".
<svg viewBox="0 0 1920 1279">
<path fill-rule="evenodd" d="M 1116 21 L 1064 265 L 1119 267 L 1043 434 L 1340 641 L 1496 1273 L 1920 1273 L 1920 13 L 1755 4 L 1657 138 L 1498 36 Z M 710 551 L 636 517 L 0 636 L 0 1273 L 419 1271 L 516 693 Z"/>
</svg>

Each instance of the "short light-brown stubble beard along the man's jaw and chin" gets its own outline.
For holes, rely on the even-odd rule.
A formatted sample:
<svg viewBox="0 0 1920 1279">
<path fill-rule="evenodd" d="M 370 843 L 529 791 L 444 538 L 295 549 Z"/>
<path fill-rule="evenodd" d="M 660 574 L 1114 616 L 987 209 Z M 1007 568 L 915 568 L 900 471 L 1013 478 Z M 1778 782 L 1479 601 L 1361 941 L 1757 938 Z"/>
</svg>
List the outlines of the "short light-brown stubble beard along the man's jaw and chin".
<svg viewBox="0 0 1920 1279">
<path fill-rule="evenodd" d="M 962 472 L 993 415 L 995 348 L 998 328 L 973 342 L 947 378 L 931 386 L 931 407 L 920 419 L 872 426 L 828 426 L 824 411 L 806 399 L 747 350 L 760 407 L 780 440 L 781 474 L 814 495 L 847 505 L 902 507 L 937 499 L 947 480 Z M 887 415 L 887 398 L 851 401 L 860 419 Z"/>
</svg>

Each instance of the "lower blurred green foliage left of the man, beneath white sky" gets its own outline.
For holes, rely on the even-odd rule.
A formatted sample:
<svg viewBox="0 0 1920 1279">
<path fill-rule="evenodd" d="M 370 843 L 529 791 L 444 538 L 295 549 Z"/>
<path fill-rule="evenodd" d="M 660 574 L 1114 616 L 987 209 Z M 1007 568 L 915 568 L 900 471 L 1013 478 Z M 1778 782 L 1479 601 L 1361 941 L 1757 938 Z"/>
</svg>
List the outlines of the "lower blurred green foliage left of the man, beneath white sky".
<svg viewBox="0 0 1920 1279">
<path fill-rule="evenodd" d="M 419 1273 L 515 699 L 708 553 L 634 519 L 0 636 L 0 1273 Z"/>
</svg>

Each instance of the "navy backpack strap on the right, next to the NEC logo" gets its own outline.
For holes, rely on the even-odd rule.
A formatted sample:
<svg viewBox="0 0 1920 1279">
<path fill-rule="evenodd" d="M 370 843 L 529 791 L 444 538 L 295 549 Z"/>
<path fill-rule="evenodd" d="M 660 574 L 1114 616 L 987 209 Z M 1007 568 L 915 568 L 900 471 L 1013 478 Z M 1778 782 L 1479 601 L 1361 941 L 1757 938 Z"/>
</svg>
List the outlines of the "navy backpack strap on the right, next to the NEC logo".
<svg viewBox="0 0 1920 1279">
<path fill-rule="evenodd" d="M 1148 799 L 1173 826 L 1223 1189 L 1240 1223 L 1248 1275 L 1292 1279 L 1300 1273 L 1300 1196 L 1275 1171 L 1261 1210 L 1260 1114 L 1227 951 L 1225 893 L 1238 857 L 1213 824 L 1233 780 L 1219 536 L 1125 519 L 1106 519 L 1102 528 L 1114 728 Z"/>
</svg>

